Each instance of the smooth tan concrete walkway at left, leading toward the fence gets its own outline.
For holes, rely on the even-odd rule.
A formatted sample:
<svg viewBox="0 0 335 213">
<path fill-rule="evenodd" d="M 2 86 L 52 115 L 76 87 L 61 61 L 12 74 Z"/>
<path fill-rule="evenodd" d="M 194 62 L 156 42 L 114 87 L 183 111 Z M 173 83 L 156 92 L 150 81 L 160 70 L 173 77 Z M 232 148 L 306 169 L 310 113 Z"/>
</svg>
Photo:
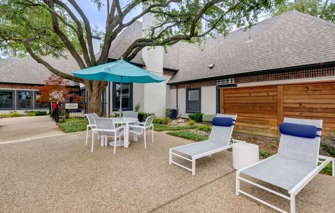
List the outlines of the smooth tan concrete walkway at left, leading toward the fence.
<svg viewBox="0 0 335 213">
<path fill-rule="evenodd" d="M 0 119 L 0 142 L 64 134 L 49 116 Z"/>
</svg>

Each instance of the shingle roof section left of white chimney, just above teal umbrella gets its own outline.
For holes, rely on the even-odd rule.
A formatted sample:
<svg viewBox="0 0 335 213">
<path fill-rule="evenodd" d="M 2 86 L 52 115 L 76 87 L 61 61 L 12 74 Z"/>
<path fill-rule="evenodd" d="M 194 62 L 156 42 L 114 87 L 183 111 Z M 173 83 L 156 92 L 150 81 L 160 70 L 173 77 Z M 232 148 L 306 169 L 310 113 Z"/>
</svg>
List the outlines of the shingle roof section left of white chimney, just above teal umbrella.
<svg viewBox="0 0 335 213">
<path fill-rule="evenodd" d="M 122 31 L 114 40 L 111 42 L 108 57 L 112 59 L 118 59 L 127 50 L 133 42 L 142 37 L 142 23 L 139 21 L 134 22 L 131 26 L 127 27 Z M 138 52 L 131 62 L 145 65 L 142 58 L 142 51 Z"/>
</svg>

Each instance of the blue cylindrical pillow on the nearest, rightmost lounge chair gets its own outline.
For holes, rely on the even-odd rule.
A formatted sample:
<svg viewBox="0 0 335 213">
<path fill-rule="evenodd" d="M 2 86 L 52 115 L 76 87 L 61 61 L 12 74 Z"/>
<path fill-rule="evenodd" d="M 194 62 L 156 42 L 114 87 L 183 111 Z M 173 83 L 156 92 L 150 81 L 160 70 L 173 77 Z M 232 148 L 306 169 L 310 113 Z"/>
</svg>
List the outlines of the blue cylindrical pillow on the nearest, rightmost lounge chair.
<svg viewBox="0 0 335 213">
<path fill-rule="evenodd" d="M 282 123 L 279 127 L 279 131 L 285 135 L 292 135 L 303 138 L 315 138 L 320 137 L 317 132 L 321 131 L 321 129 L 313 125 Z"/>
</svg>

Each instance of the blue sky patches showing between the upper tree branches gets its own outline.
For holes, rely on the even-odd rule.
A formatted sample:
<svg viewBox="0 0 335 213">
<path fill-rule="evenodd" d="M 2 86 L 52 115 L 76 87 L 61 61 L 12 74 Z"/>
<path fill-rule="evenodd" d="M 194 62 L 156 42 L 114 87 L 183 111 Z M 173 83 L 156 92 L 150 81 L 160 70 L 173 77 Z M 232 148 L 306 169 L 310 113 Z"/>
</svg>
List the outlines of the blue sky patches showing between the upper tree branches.
<svg viewBox="0 0 335 213">
<path fill-rule="evenodd" d="M 103 1 L 106 4 L 106 1 Z M 81 9 L 84 11 L 92 27 L 97 25 L 99 29 L 105 28 L 106 22 L 106 6 L 101 8 L 99 12 L 98 7 L 94 5 L 90 0 L 78 0 L 77 3 L 80 5 Z M 127 0 L 120 0 L 121 8 L 127 4 Z M 72 10 L 73 11 L 73 10 Z M 124 19 L 124 22 L 131 19 L 132 17 L 138 15 L 142 11 L 141 7 L 137 7 L 135 10 L 132 10 Z M 79 17 L 79 15 L 78 15 Z"/>
</svg>

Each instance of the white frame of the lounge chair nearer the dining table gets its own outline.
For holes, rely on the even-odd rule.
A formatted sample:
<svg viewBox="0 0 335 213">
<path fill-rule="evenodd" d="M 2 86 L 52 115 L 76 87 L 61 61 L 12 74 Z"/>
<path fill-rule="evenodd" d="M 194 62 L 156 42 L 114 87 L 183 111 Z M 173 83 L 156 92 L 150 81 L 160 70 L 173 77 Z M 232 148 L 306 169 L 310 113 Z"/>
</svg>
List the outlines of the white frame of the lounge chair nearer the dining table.
<svg viewBox="0 0 335 213">
<path fill-rule="evenodd" d="M 216 117 L 230 117 L 230 118 L 233 118 L 234 120 L 236 120 L 237 116 L 236 115 L 217 114 Z M 195 144 L 195 143 L 190 143 L 190 144 L 186 144 L 186 145 L 181 145 L 181 146 L 176 146 L 176 147 L 170 148 L 170 152 L 169 152 L 169 164 L 170 165 L 171 164 L 175 164 L 175 165 L 180 166 L 180 167 L 182 167 L 184 169 L 187 169 L 188 171 L 192 172 L 192 176 L 195 176 L 195 161 L 196 161 L 196 159 L 199 159 L 199 158 L 202 158 L 202 157 L 205 157 L 205 156 L 209 156 L 209 155 L 212 155 L 214 153 L 221 152 L 221 151 L 225 151 L 225 150 L 228 150 L 228 148 L 232 148 L 233 147 L 234 139 L 231 137 L 231 135 L 233 133 L 233 130 L 234 130 L 234 125 L 231 128 L 230 139 L 229 139 L 229 142 L 228 142 L 227 146 L 222 146 L 220 148 L 216 148 L 216 149 L 208 151 L 208 152 L 203 152 L 203 153 L 198 154 L 198 155 L 190 156 L 191 158 L 181 156 L 179 154 L 174 153 L 173 151 L 174 151 L 175 148 L 179 148 L 179 147 L 183 147 L 183 146 L 189 146 L 189 145 Z M 208 140 L 201 141 L 201 142 L 196 142 L 196 144 L 207 143 L 207 142 L 208 142 Z M 192 167 L 188 168 L 186 166 L 183 166 L 183 165 L 181 165 L 181 164 L 173 161 L 173 158 L 172 158 L 173 156 L 176 156 L 176 157 L 182 158 L 184 160 L 190 161 L 192 163 Z"/>
</svg>

